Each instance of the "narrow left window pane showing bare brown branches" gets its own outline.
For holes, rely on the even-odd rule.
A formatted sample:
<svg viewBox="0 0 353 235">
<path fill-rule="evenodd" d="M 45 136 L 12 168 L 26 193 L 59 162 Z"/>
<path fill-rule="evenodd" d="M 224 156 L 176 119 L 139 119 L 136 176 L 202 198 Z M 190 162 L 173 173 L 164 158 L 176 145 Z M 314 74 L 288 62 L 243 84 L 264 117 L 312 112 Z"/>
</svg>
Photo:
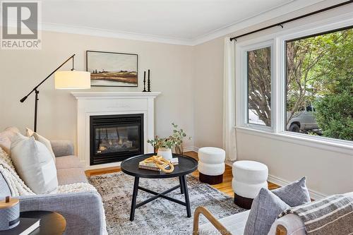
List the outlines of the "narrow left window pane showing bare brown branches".
<svg viewBox="0 0 353 235">
<path fill-rule="evenodd" d="M 271 126 L 271 47 L 246 52 L 247 122 Z"/>
</svg>

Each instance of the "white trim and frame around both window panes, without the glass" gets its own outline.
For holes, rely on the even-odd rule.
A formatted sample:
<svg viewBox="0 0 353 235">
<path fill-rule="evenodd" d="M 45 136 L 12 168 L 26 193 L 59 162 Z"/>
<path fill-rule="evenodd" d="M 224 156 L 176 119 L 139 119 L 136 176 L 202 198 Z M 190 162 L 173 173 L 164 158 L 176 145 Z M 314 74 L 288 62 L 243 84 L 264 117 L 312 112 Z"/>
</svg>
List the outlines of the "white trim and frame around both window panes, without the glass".
<svg viewBox="0 0 353 235">
<path fill-rule="evenodd" d="M 236 127 L 241 133 L 274 138 L 290 143 L 297 143 L 309 147 L 318 147 L 324 150 L 341 152 L 353 156 L 353 142 L 320 136 L 304 135 L 285 131 L 285 41 L 314 35 L 320 32 L 335 30 L 353 25 L 353 13 L 346 13 L 333 18 L 326 18 L 313 23 L 301 25 L 289 30 L 281 30 L 251 40 L 236 43 Z M 247 123 L 246 97 L 246 64 L 244 52 L 256 49 L 256 46 L 271 43 L 271 128 Z M 260 47 L 261 48 L 261 47 Z M 246 61 L 245 61 L 246 62 Z"/>
</svg>

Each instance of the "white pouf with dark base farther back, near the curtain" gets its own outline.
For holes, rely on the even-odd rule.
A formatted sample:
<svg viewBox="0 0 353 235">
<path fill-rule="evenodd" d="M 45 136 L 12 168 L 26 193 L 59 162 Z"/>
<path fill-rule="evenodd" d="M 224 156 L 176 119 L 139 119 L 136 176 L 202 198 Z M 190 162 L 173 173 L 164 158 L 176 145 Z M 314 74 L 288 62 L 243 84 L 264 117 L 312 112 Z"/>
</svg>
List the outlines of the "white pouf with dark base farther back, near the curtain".
<svg viewBox="0 0 353 235">
<path fill-rule="evenodd" d="M 225 150 L 218 147 L 201 147 L 198 150 L 199 179 L 203 183 L 222 183 L 225 173 Z"/>
</svg>

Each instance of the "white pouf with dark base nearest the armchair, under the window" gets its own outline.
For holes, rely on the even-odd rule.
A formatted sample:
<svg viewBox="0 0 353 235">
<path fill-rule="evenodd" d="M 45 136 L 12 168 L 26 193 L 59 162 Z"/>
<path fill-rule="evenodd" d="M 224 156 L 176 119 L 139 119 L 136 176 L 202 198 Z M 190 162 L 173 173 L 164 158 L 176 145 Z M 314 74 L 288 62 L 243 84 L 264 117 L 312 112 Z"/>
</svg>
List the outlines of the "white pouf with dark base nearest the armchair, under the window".
<svg viewBox="0 0 353 235">
<path fill-rule="evenodd" d="M 233 163 L 232 173 L 234 203 L 250 209 L 260 189 L 268 188 L 268 167 L 261 162 L 237 161 Z"/>
</svg>

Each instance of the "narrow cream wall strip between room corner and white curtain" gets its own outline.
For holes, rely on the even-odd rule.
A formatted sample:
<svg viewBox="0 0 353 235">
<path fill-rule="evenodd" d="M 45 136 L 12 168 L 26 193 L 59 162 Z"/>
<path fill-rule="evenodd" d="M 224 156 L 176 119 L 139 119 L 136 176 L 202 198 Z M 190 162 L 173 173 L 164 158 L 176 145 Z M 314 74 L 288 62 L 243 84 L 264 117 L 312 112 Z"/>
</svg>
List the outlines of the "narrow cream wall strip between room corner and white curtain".
<svg viewBox="0 0 353 235">
<path fill-rule="evenodd" d="M 223 38 L 194 48 L 194 127 L 196 147 L 222 147 Z"/>
</svg>

